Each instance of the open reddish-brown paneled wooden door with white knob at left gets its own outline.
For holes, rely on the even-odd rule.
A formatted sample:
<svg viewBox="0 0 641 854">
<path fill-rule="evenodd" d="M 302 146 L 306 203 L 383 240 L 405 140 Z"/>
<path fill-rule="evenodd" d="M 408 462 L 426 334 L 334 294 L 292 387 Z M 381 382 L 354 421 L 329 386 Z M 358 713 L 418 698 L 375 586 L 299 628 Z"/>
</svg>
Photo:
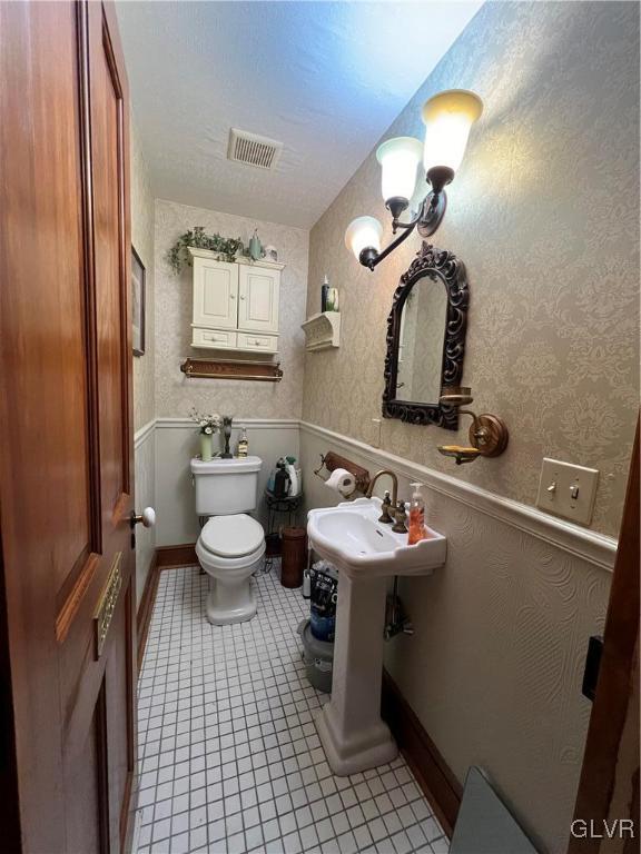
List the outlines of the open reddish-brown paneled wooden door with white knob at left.
<svg viewBox="0 0 641 854">
<path fill-rule="evenodd" d="M 129 107 L 111 8 L 0 3 L 0 87 L 9 796 L 24 852 L 118 852 L 136 596 Z"/>
</svg>

